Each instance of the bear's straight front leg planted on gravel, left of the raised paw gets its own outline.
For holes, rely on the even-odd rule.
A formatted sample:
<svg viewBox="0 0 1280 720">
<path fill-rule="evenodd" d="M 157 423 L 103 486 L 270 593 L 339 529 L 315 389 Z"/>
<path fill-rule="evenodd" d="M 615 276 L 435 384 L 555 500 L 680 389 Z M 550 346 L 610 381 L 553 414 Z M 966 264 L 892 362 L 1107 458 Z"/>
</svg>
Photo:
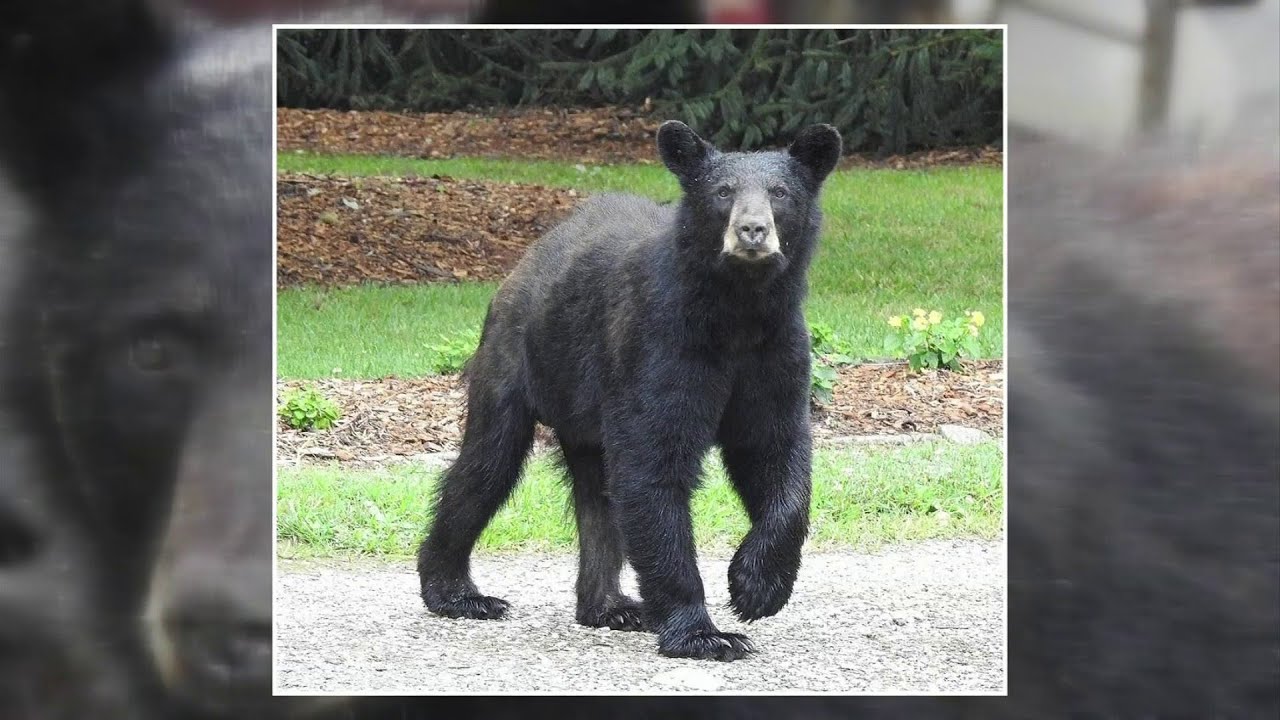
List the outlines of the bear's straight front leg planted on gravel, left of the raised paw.
<svg viewBox="0 0 1280 720">
<path fill-rule="evenodd" d="M 668 657 L 737 660 L 754 648 L 745 635 L 718 630 L 707 612 L 689 512 L 712 432 L 687 414 L 644 415 L 612 425 L 605 468 L 645 625 Z"/>
</svg>

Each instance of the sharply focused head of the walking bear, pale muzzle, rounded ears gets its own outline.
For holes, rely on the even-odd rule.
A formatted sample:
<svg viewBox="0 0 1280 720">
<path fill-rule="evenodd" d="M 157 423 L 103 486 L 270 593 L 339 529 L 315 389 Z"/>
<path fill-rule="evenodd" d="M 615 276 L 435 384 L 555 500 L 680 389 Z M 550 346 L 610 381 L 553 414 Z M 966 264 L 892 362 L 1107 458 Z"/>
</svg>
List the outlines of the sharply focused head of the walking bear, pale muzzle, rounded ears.
<svg viewBox="0 0 1280 720">
<path fill-rule="evenodd" d="M 840 160 L 840 133 L 815 124 L 785 151 L 721 152 L 680 120 L 658 128 L 658 152 L 685 191 L 698 243 L 733 266 L 781 272 L 812 255 L 822 183 Z"/>
</svg>

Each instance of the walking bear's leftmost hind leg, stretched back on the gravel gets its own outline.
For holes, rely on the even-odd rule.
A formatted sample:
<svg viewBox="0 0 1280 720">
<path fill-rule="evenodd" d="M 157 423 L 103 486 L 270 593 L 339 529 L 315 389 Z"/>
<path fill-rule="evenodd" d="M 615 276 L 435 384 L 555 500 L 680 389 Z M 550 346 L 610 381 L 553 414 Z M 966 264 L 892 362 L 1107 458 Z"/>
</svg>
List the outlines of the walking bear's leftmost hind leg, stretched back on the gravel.
<svg viewBox="0 0 1280 720">
<path fill-rule="evenodd" d="M 417 552 L 426 609 L 445 618 L 495 620 L 507 601 L 488 597 L 471 582 L 471 550 L 511 497 L 534 442 L 534 414 L 518 384 L 471 383 L 466 430 L 457 461 L 440 482 L 430 532 Z"/>
</svg>

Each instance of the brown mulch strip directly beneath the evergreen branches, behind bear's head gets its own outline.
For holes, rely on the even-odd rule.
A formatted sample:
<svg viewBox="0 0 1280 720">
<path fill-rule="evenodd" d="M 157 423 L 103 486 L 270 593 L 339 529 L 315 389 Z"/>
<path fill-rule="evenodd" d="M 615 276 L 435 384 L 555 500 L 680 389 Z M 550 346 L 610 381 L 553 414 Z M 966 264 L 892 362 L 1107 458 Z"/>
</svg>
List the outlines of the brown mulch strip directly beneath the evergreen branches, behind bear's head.
<svg viewBox="0 0 1280 720">
<path fill-rule="evenodd" d="M 657 163 L 654 135 L 666 118 L 630 108 L 498 109 L 486 113 L 276 110 L 280 152 L 402 155 L 408 158 L 521 158 L 572 163 Z M 1000 165 L 995 147 L 877 158 L 849 155 L 845 168 L 916 169 Z"/>
</svg>

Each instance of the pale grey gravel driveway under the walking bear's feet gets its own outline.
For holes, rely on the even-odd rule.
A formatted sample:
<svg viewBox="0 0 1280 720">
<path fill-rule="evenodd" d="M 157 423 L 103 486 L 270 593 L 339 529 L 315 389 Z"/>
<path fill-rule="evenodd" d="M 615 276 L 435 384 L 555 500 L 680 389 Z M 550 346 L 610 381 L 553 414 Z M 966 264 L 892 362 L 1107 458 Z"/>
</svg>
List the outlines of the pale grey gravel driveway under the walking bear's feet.
<svg viewBox="0 0 1280 720">
<path fill-rule="evenodd" d="M 477 555 L 503 621 L 426 612 L 403 565 L 280 561 L 276 688 L 285 692 L 993 692 L 1005 688 L 1001 542 L 941 541 L 805 556 L 791 603 L 732 620 L 728 557 L 703 559 L 712 616 L 759 651 L 672 660 L 654 637 L 573 623 L 572 555 Z M 625 587 L 635 591 L 634 578 Z"/>
</svg>

